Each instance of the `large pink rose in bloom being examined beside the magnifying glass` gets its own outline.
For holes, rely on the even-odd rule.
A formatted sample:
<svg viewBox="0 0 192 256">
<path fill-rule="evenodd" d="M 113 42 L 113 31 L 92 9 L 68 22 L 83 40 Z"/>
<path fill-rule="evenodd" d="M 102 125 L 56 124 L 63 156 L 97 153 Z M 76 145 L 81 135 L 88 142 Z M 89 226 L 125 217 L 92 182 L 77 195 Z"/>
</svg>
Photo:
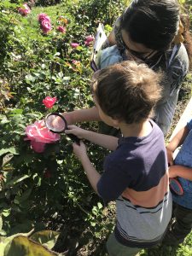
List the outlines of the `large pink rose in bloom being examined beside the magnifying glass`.
<svg viewBox="0 0 192 256">
<path fill-rule="evenodd" d="M 33 125 L 26 126 L 25 140 L 31 141 L 32 149 L 35 152 L 44 152 L 46 143 L 55 143 L 60 140 L 60 135 L 49 131 L 44 125 L 44 120 L 38 120 Z"/>
</svg>

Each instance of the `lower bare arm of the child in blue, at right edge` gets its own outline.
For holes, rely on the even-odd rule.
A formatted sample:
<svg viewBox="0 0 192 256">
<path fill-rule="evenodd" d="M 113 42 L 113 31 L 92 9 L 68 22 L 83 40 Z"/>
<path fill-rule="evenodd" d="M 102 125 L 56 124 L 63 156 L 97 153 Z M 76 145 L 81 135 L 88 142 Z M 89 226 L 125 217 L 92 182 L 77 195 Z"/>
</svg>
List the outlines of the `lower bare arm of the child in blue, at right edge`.
<svg viewBox="0 0 192 256">
<path fill-rule="evenodd" d="M 169 177 L 183 177 L 192 181 L 192 168 L 187 166 L 170 166 Z"/>
</svg>

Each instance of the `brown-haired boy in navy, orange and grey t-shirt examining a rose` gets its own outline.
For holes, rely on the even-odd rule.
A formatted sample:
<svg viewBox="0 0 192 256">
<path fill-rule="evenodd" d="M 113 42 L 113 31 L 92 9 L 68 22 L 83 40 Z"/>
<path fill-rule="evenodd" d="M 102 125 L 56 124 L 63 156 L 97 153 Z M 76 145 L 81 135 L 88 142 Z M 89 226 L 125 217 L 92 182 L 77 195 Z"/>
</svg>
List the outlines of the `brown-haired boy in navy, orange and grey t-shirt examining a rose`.
<svg viewBox="0 0 192 256">
<path fill-rule="evenodd" d="M 101 119 L 123 137 L 69 131 L 109 148 L 102 175 L 90 163 L 84 143 L 73 143 L 91 186 L 105 203 L 116 200 L 117 221 L 109 236 L 109 255 L 135 255 L 159 243 L 172 215 L 164 137 L 148 119 L 160 98 L 160 75 L 144 64 L 123 61 L 96 74 L 92 91 Z"/>
</svg>

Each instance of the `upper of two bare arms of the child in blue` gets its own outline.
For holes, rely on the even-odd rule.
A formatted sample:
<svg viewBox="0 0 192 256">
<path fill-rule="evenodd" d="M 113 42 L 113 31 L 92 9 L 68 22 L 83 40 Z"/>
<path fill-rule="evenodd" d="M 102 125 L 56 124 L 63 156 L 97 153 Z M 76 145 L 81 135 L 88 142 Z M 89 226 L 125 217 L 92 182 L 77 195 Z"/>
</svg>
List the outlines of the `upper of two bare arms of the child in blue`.
<svg viewBox="0 0 192 256">
<path fill-rule="evenodd" d="M 177 147 L 183 144 L 185 137 L 187 137 L 189 129 L 185 125 L 177 134 L 172 138 L 171 142 L 166 145 L 166 154 L 168 158 L 168 163 L 170 166 L 173 165 L 173 153 Z"/>
</svg>

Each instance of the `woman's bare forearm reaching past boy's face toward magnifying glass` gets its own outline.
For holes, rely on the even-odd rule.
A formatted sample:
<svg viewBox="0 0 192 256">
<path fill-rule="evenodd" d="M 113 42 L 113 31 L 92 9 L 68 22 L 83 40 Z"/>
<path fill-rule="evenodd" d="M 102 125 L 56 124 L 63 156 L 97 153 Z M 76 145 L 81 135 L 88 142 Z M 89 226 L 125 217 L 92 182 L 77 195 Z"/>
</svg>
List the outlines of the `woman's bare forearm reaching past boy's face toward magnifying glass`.
<svg viewBox="0 0 192 256">
<path fill-rule="evenodd" d="M 67 120 L 68 125 L 73 125 L 78 122 L 84 121 L 100 121 L 98 110 L 96 107 L 77 109 L 72 112 L 62 113 L 64 118 Z"/>
</svg>

